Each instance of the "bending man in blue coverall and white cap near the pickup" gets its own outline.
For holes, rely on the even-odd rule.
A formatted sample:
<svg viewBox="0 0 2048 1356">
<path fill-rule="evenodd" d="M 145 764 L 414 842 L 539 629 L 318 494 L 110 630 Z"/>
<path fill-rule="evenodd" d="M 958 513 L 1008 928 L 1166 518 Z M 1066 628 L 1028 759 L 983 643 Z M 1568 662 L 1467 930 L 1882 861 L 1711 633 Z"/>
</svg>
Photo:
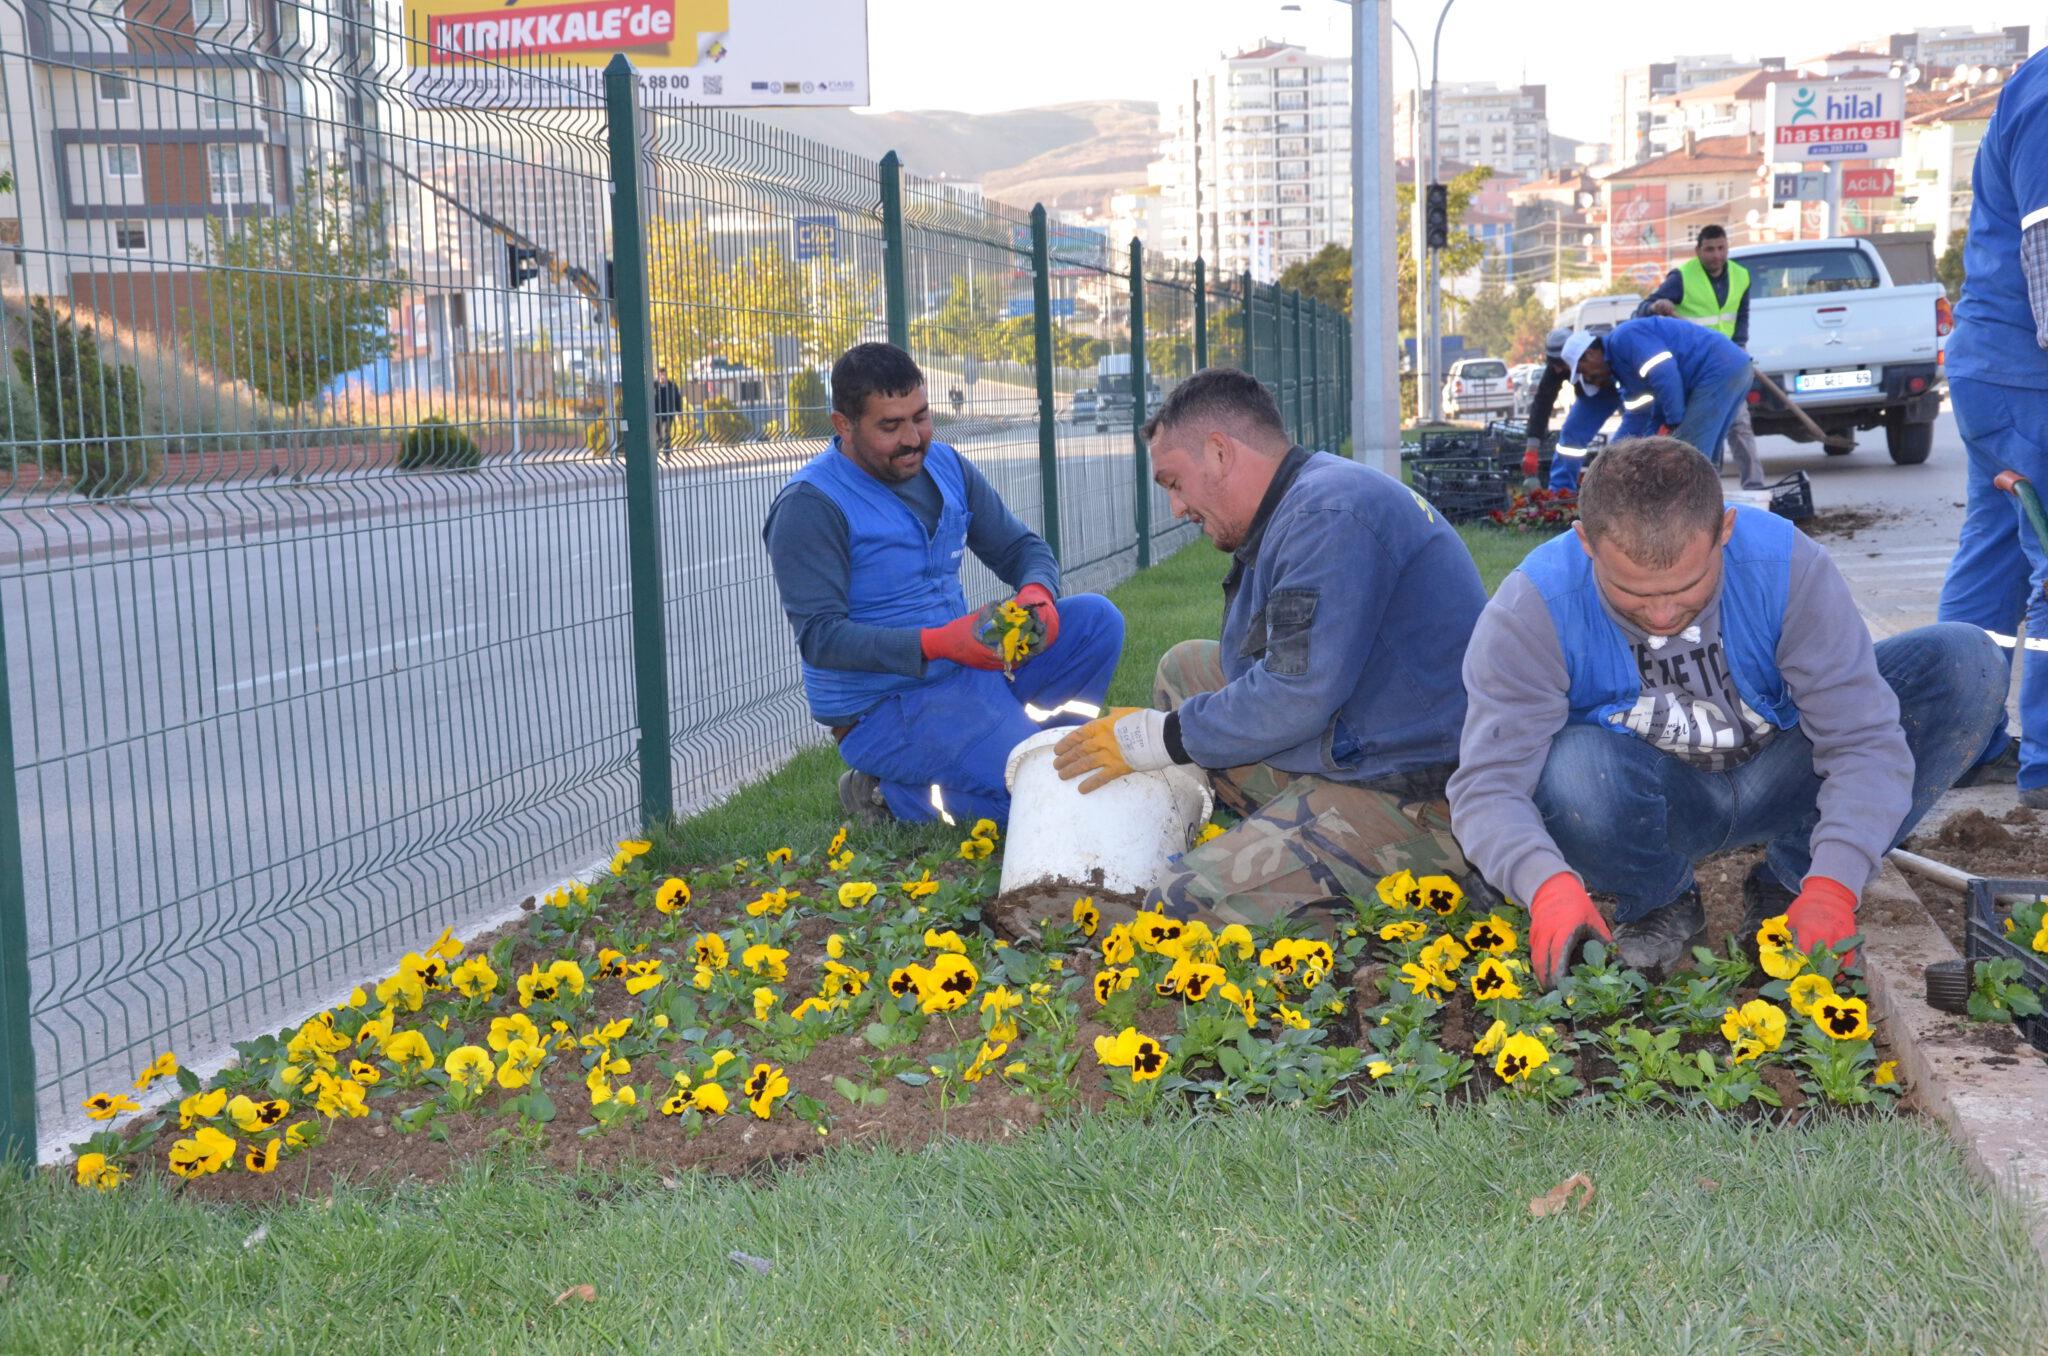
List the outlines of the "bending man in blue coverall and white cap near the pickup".
<svg viewBox="0 0 2048 1356">
<path fill-rule="evenodd" d="M 1667 315 L 1624 320 L 1606 336 L 1579 330 L 1565 342 L 1565 371 L 1579 385 L 1579 399 L 1556 451 L 1559 459 L 1577 455 L 1581 463 L 1585 440 L 1622 410 L 1616 442 L 1669 430 L 1720 465 L 1720 442 L 1751 383 L 1747 352 L 1714 330 Z"/>
</svg>

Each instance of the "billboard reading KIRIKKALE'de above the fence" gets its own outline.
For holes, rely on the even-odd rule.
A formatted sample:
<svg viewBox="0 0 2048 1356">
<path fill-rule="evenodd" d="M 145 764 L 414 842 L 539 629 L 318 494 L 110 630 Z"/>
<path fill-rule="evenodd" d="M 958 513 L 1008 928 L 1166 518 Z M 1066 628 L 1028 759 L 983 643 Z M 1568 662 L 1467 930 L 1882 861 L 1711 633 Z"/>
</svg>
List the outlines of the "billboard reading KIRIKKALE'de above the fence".
<svg viewBox="0 0 2048 1356">
<path fill-rule="evenodd" d="M 406 39 L 434 104 L 594 104 L 614 53 L 653 107 L 868 102 L 866 0 L 406 0 Z"/>
</svg>

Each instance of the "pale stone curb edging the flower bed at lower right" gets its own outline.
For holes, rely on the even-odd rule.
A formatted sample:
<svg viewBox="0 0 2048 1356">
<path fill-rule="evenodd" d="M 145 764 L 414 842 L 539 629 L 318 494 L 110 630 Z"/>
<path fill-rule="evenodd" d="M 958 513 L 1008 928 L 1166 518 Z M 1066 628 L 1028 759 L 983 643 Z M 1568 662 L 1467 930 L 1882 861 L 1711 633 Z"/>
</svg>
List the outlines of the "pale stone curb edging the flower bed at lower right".
<svg viewBox="0 0 2048 1356">
<path fill-rule="evenodd" d="M 2048 1063 L 1987 1063 L 1980 1045 L 1958 1039 L 1962 1018 L 1927 1006 L 1925 967 L 1956 959 L 1956 948 L 1896 866 L 1870 881 L 1858 914 L 1870 1006 L 1901 1082 L 1970 1170 L 2028 1213 L 2034 1252 L 2048 1262 Z"/>
</svg>

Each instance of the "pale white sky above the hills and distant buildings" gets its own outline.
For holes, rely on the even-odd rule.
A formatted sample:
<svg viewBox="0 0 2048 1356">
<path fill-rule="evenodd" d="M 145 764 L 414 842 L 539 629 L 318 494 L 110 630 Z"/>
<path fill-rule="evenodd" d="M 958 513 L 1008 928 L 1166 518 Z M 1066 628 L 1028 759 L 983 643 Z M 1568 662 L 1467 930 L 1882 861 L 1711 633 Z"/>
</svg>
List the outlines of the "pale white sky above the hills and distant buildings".
<svg viewBox="0 0 2048 1356">
<path fill-rule="evenodd" d="M 995 113 L 1081 98 L 1159 98 L 1219 51 L 1260 37 L 1350 51 L 1350 6 L 1339 0 L 868 0 L 872 111 Z M 1417 41 L 1423 76 L 1440 0 L 1395 0 L 1395 20 Z M 1702 16 L 1708 23 L 1702 23 Z M 1542 4 L 1452 0 L 1440 80 L 1548 84 L 1550 131 L 1608 139 L 1616 74 L 1677 53 L 1782 55 L 1839 51 L 1892 31 L 1942 23 L 1993 29 L 2048 23 L 2044 4 L 1952 0 L 1677 0 Z M 1595 37 L 1587 39 L 1587 29 Z M 2040 29 L 2036 29 L 2040 35 Z M 1395 88 L 1413 63 L 1395 39 Z"/>
</svg>

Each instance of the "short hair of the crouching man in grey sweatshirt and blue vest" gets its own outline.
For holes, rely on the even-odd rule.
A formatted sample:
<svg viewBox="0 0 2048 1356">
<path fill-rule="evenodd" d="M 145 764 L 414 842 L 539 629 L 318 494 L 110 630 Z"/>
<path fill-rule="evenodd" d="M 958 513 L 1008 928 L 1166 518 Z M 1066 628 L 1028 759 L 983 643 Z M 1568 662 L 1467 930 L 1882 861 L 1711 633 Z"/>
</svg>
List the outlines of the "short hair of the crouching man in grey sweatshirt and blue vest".
<svg viewBox="0 0 2048 1356">
<path fill-rule="evenodd" d="M 1700 533 L 1720 533 L 1720 471 L 1690 442 L 1624 438 L 1604 451 L 1579 485 L 1579 526 L 1589 543 L 1663 569 Z"/>
</svg>

